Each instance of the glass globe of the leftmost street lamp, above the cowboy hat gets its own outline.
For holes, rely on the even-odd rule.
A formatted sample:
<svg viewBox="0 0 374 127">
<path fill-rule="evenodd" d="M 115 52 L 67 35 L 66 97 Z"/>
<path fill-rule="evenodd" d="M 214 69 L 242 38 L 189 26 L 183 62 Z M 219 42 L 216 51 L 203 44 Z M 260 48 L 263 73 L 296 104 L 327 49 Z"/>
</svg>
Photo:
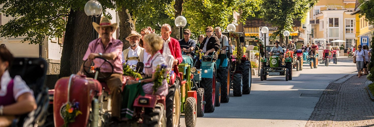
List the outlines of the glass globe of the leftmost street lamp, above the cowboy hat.
<svg viewBox="0 0 374 127">
<path fill-rule="evenodd" d="M 87 16 L 98 17 L 101 15 L 102 6 L 97 0 L 90 0 L 85 4 L 85 13 Z"/>
</svg>

